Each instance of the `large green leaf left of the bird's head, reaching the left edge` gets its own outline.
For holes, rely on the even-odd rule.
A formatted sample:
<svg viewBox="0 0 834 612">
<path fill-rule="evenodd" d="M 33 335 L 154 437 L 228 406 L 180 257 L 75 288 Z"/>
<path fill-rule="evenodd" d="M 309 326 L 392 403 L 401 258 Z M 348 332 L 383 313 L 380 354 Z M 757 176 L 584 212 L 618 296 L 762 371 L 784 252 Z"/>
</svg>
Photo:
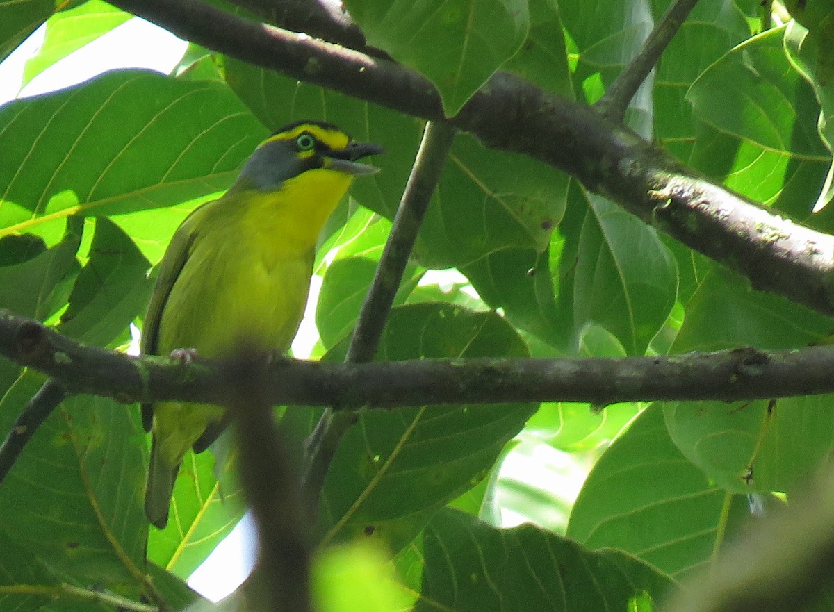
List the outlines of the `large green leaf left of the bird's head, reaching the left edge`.
<svg viewBox="0 0 834 612">
<path fill-rule="evenodd" d="M 0 236 L 108 215 L 128 233 L 144 228 L 137 243 L 152 261 L 176 224 L 160 223 L 170 209 L 151 209 L 194 208 L 229 187 L 266 134 L 222 83 L 141 70 L 13 101 L 0 125 Z"/>
</svg>

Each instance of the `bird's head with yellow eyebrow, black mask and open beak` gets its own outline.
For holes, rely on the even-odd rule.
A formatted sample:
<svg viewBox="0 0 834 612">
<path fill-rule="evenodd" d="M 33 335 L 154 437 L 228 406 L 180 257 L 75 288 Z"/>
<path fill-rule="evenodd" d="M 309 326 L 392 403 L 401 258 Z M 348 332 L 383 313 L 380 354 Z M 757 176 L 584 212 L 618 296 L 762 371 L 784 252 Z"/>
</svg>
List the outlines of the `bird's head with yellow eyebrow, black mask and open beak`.
<svg viewBox="0 0 834 612">
<path fill-rule="evenodd" d="M 309 172 L 344 178 L 373 174 L 379 169 L 358 160 L 380 153 L 384 149 L 379 145 L 353 142 L 331 123 L 290 123 L 260 143 L 240 171 L 235 187 L 273 191 Z"/>
</svg>

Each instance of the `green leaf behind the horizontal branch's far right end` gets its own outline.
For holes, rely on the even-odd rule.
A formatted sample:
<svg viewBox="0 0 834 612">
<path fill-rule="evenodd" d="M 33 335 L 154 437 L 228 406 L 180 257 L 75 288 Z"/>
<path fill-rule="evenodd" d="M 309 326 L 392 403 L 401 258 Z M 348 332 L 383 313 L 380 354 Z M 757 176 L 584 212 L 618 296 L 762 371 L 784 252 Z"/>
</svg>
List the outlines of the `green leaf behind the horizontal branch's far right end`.
<svg viewBox="0 0 834 612">
<path fill-rule="evenodd" d="M 691 299 L 672 349 L 799 348 L 831 329 L 830 317 L 713 272 Z M 831 396 L 780 399 L 772 410 L 765 400 L 669 403 L 666 423 L 683 454 L 722 487 L 791 490 L 831 451 L 831 402 Z"/>
</svg>

